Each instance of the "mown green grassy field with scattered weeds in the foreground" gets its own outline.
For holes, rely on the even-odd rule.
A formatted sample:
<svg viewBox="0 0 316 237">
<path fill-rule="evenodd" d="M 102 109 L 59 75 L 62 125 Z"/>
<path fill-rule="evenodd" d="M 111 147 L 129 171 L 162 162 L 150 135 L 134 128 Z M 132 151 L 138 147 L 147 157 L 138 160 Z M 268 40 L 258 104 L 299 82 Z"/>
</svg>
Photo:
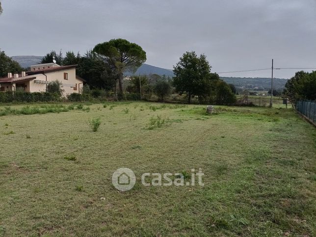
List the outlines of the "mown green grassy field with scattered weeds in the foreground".
<svg viewBox="0 0 316 237">
<path fill-rule="evenodd" d="M 0 106 L 0 236 L 316 236 L 316 130 L 290 109 L 24 106 Z M 191 168 L 204 186 L 140 182 Z"/>
</svg>

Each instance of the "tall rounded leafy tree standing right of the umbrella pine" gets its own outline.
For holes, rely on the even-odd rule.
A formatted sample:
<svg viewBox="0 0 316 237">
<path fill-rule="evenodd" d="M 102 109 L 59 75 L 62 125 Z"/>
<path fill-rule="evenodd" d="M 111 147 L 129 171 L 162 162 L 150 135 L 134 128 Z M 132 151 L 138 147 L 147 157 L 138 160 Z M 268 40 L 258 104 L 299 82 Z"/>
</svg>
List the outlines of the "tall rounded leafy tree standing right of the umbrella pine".
<svg viewBox="0 0 316 237">
<path fill-rule="evenodd" d="M 211 66 L 204 54 L 199 57 L 194 51 L 186 52 L 173 67 L 175 78 L 173 85 L 176 92 L 186 94 L 188 103 L 193 96 L 205 96 L 211 86 Z"/>
</svg>

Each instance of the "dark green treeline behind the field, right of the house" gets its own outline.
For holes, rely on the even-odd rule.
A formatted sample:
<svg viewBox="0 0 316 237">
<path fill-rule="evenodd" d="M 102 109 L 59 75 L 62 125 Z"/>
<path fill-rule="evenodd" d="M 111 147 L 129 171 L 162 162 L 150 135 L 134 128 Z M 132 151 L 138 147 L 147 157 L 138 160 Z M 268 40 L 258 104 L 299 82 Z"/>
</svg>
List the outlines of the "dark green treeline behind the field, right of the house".
<svg viewBox="0 0 316 237">
<path fill-rule="evenodd" d="M 131 52 L 133 56 L 129 56 Z M 131 94 L 139 94 L 138 98 L 141 99 L 150 99 L 156 94 L 159 101 L 163 102 L 171 93 L 179 93 L 185 95 L 188 103 L 191 103 L 192 98 L 198 98 L 200 103 L 220 105 L 232 105 L 236 102 L 235 86 L 227 84 L 216 73 L 211 73 L 211 65 L 206 56 L 197 56 L 195 52 L 183 54 L 174 66 L 175 77 L 172 79 L 147 75 L 123 80 L 123 73 L 127 70 L 135 71 L 145 58 L 146 53 L 140 46 L 117 39 L 98 44 L 93 51 L 88 51 L 83 56 L 67 52 L 63 57 L 61 52 L 52 51 L 44 56 L 41 63 L 49 63 L 55 59 L 59 65 L 77 64 L 77 74 L 87 81 L 86 85 L 90 90 L 117 92 L 118 99 L 128 99 Z M 78 100 L 81 99 L 80 96 L 77 97 Z"/>
</svg>

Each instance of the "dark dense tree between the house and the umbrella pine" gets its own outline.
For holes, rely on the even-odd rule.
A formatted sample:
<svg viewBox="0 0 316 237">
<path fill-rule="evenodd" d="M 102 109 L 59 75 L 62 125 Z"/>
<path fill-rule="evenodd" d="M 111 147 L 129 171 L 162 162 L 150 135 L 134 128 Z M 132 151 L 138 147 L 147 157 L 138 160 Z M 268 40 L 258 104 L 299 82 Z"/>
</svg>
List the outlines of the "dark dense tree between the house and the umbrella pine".
<svg viewBox="0 0 316 237">
<path fill-rule="evenodd" d="M 87 51 L 78 62 L 77 74 L 85 79 L 91 89 L 101 88 L 113 90 L 117 75 L 113 73 L 110 65 L 105 63 L 96 53 Z"/>
</svg>

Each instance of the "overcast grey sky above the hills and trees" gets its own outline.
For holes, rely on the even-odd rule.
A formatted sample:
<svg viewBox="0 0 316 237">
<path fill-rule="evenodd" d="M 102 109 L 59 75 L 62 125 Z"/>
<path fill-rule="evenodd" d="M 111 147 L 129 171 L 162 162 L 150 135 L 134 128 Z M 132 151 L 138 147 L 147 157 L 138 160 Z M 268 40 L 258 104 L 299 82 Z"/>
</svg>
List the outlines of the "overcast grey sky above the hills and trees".
<svg viewBox="0 0 316 237">
<path fill-rule="evenodd" d="M 185 51 L 213 72 L 316 67 L 316 0 L 1 0 L 0 48 L 9 56 L 84 53 L 125 38 L 146 63 L 172 69 Z M 290 78 L 296 70 L 277 70 Z M 270 71 L 220 74 L 270 77 Z"/>
</svg>

